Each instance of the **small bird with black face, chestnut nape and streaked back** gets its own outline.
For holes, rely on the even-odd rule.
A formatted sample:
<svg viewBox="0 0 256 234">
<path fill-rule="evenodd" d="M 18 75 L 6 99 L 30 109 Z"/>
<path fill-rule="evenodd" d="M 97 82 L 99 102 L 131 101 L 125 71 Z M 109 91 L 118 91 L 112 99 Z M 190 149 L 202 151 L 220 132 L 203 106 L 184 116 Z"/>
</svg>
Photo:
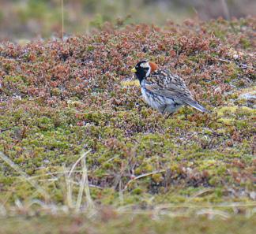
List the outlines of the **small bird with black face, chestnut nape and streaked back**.
<svg viewBox="0 0 256 234">
<path fill-rule="evenodd" d="M 168 69 L 147 60 L 142 60 L 131 69 L 140 81 L 141 94 L 145 102 L 160 113 L 174 113 L 183 105 L 189 105 L 201 112 L 208 112 L 194 100 L 184 80 Z"/>
</svg>

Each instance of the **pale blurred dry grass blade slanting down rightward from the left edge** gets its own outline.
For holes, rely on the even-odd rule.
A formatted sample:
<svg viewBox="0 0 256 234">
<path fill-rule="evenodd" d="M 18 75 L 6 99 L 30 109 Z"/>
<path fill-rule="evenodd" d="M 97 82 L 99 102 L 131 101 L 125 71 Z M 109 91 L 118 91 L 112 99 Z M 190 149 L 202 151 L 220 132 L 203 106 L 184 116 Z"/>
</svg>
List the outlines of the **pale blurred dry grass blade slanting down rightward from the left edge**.
<svg viewBox="0 0 256 234">
<path fill-rule="evenodd" d="M 11 161 L 5 154 L 3 154 L 0 151 L 0 158 L 2 158 L 2 160 L 4 162 L 6 162 L 11 168 L 13 168 L 15 171 L 17 171 L 17 173 L 19 173 L 21 175 L 21 178 L 25 181 L 27 181 L 29 184 L 32 185 L 32 187 L 36 188 L 36 191 L 38 193 L 40 193 L 41 195 L 43 195 L 43 198 L 46 201 L 50 200 L 50 195 L 48 195 L 47 191 L 45 191 L 42 187 L 40 187 L 39 184 L 37 184 L 34 180 L 30 180 L 28 174 L 24 173 L 24 171 L 22 171 L 22 169 L 15 164 L 13 161 Z"/>
</svg>

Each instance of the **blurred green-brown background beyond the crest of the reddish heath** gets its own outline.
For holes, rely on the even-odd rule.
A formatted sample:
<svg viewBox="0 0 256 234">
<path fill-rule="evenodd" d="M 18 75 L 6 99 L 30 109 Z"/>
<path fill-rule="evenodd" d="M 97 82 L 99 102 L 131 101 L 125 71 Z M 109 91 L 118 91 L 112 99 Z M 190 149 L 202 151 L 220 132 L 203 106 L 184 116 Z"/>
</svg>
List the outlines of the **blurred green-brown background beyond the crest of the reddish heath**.
<svg viewBox="0 0 256 234">
<path fill-rule="evenodd" d="M 1 0 L 0 39 L 48 38 L 62 31 L 61 0 Z M 209 20 L 216 17 L 254 15 L 253 0 L 64 0 L 65 32 L 85 34 L 108 21 L 117 27 L 130 23 L 163 25 L 188 17 Z"/>
</svg>

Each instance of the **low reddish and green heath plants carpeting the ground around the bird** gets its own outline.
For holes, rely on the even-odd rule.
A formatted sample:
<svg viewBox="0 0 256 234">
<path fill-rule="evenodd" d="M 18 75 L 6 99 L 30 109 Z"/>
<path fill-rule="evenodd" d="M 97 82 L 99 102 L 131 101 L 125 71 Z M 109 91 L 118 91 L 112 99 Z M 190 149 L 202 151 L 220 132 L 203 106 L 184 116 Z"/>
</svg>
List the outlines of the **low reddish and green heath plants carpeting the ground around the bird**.
<svg viewBox="0 0 256 234">
<path fill-rule="evenodd" d="M 104 24 L 65 41 L 0 44 L 0 215 L 198 214 L 253 231 L 255 23 Z M 150 109 L 130 72 L 142 58 L 183 76 L 211 113 Z"/>
</svg>

